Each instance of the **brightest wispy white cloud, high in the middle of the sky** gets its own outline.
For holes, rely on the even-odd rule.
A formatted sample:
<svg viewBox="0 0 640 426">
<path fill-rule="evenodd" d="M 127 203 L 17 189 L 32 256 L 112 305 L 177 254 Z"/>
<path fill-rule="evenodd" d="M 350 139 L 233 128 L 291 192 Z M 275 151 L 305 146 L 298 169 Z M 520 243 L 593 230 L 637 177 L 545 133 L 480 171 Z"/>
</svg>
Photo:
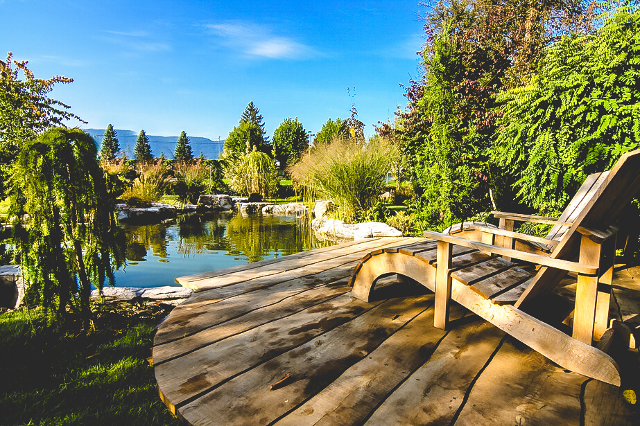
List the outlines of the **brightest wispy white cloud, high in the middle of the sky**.
<svg viewBox="0 0 640 426">
<path fill-rule="evenodd" d="M 226 21 L 217 24 L 202 24 L 207 33 L 214 36 L 219 46 L 232 49 L 246 56 L 270 59 L 308 59 L 318 52 L 311 46 L 296 42 L 291 37 L 275 35 L 266 26 L 242 21 Z"/>
</svg>

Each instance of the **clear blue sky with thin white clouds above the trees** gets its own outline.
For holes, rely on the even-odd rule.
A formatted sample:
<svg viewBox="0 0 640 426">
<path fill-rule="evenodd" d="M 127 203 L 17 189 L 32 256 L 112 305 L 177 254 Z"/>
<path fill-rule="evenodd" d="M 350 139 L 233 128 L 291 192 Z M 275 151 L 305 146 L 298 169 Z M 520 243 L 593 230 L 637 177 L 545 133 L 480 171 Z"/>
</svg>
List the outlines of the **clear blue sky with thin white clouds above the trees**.
<svg viewBox="0 0 640 426">
<path fill-rule="evenodd" d="M 349 87 L 371 135 L 419 75 L 420 12 L 418 0 L 0 0 L 0 55 L 73 78 L 52 96 L 86 128 L 225 139 L 253 100 L 269 135 L 287 117 L 315 133 L 349 116 Z"/>
</svg>

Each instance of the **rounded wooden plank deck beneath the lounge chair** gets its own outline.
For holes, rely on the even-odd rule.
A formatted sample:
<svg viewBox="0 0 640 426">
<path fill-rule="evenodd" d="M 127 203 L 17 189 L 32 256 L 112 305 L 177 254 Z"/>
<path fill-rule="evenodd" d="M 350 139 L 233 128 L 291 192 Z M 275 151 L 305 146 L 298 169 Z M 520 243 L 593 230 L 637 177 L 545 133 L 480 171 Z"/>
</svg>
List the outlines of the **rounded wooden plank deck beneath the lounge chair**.
<svg viewBox="0 0 640 426">
<path fill-rule="evenodd" d="M 155 336 L 162 400 L 191 425 L 637 424 L 622 396 L 639 382 L 637 351 L 625 352 L 617 388 L 563 371 L 455 303 L 451 329 L 434 328 L 434 296 L 422 287 L 389 280 L 372 303 L 349 294 L 365 254 L 419 240 L 349 242 L 179 278 L 197 291 Z M 624 272 L 612 312 L 629 319 L 640 312 L 640 276 Z"/>
</svg>

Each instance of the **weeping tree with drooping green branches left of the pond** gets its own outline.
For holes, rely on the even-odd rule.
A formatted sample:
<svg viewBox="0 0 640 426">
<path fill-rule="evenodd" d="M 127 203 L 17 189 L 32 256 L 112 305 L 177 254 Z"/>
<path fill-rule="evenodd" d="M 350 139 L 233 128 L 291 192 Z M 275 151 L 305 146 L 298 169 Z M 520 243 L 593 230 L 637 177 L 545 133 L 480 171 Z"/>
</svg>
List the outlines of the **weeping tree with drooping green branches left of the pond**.
<svg viewBox="0 0 640 426">
<path fill-rule="evenodd" d="M 92 285 L 114 285 L 123 264 L 114 199 L 91 136 L 54 128 L 24 144 L 12 173 L 12 229 L 27 303 L 90 325 Z"/>
</svg>

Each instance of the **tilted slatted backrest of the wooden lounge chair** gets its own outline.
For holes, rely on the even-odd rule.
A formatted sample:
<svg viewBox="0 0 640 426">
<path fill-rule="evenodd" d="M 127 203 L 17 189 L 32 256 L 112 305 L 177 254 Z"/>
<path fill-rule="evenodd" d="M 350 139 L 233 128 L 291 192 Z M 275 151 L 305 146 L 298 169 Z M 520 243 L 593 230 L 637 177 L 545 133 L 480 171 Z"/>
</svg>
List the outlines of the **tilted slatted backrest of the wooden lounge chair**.
<svg viewBox="0 0 640 426">
<path fill-rule="evenodd" d="M 601 184 L 593 191 L 589 191 L 591 197 L 589 199 L 585 197 L 584 206 L 576 209 L 578 213 L 575 220 L 569 221 L 573 224 L 564 231 L 560 243 L 551 252 L 551 257 L 571 260 L 580 249 L 578 227 L 604 231 L 639 191 L 640 150 L 635 150 L 623 154 Z M 515 306 L 519 307 L 535 299 L 536 296 L 550 292 L 564 275 L 565 272 L 559 269 L 540 268 Z"/>
</svg>

